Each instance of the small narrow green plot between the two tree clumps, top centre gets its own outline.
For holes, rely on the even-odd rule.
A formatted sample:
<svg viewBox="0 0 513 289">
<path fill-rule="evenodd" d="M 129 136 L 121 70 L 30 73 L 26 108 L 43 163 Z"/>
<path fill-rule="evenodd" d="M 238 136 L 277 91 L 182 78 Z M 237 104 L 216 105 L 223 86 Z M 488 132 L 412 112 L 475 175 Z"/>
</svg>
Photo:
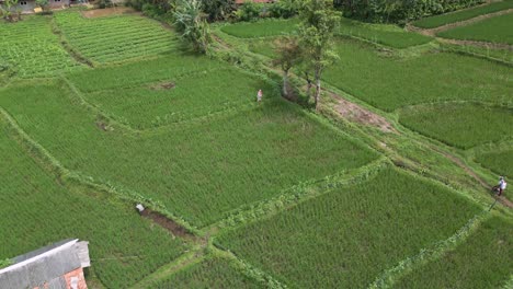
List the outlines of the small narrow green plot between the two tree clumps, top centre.
<svg viewBox="0 0 513 289">
<path fill-rule="evenodd" d="M 262 20 L 226 25 L 221 31 L 240 38 L 269 37 L 294 33 L 297 31 L 297 24 L 299 24 L 298 19 Z"/>
</svg>

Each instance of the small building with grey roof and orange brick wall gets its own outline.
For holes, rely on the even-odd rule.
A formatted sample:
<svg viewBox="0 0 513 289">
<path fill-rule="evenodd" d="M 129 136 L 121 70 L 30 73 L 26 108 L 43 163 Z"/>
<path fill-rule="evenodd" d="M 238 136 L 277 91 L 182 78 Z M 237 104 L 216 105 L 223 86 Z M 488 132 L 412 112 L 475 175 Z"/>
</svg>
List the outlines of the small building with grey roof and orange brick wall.
<svg viewBox="0 0 513 289">
<path fill-rule="evenodd" d="M 0 269 L 0 288 L 87 289 L 83 268 L 91 266 L 88 242 L 68 239 L 14 257 Z"/>
</svg>

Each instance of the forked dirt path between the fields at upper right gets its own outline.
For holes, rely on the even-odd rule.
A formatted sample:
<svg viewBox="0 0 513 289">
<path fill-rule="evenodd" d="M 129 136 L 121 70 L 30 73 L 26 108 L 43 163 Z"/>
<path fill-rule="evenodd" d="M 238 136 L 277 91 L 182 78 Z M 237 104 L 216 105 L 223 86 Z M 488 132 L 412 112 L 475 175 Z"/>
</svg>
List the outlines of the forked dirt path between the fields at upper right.
<svg viewBox="0 0 513 289">
<path fill-rule="evenodd" d="M 417 32 L 422 35 L 435 37 L 437 41 L 442 43 L 448 43 L 448 44 L 457 44 L 457 45 L 472 45 L 472 46 L 481 46 L 481 47 L 490 47 L 490 48 L 497 48 L 497 49 L 510 49 L 513 50 L 513 45 L 510 44 L 503 44 L 503 43 L 489 43 L 489 42 L 478 42 L 478 41 L 461 41 L 461 39 L 449 39 L 449 38 L 443 38 L 436 36 L 437 33 L 444 32 L 451 28 L 459 27 L 459 26 L 466 26 L 474 24 L 476 22 L 490 19 L 490 18 L 495 18 L 504 14 L 513 13 L 513 9 L 508 9 L 508 10 L 502 10 L 493 13 L 488 13 L 485 15 L 479 15 L 469 20 L 464 20 L 455 23 L 448 23 L 440 27 L 435 28 L 421 28 L 413 26 L 412 24 L 407 25 L 407 30 L 411 32 Z"/>
</svg>

